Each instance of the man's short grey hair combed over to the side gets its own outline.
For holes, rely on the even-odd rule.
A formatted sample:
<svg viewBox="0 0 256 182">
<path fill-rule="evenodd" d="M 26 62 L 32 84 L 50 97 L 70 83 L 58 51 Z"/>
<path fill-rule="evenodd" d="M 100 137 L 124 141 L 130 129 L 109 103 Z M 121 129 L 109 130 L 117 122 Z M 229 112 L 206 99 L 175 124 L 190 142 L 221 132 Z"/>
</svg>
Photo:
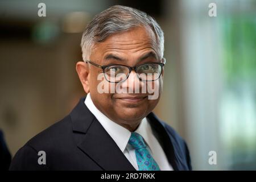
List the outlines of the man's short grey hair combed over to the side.
<svg viewBox="0 0 256 182">
<path fill-rule="evenodd" d="M 89 60 L 94 44 L 104 42 L 108 36 L 114 33 L 128 31 L 139 26 L 150 27 L 154 31 L 156 53 L 162 59 L 164 35 L 156 20 L 143 11 L 119 5 L 109 7 L 109 9 L 97 14 L 86 26 L 81 40 L 82 59 L 84 61 Z"/>
</svg>

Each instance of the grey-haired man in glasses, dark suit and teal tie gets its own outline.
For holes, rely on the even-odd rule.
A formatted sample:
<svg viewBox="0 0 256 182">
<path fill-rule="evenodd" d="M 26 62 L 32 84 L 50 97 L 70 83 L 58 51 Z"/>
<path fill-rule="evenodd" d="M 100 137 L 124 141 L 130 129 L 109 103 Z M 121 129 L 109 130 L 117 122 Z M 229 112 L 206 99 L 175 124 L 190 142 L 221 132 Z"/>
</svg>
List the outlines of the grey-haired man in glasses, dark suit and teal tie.
<svg viewBox="0 0 256 182">
<path fill-rule="evenodd" d="M 76 71 L 86 98 L 20 148 L 10 169 L 190 170 L 184 140 L 151 113 L 165 63 L 159 24 L 112 6 L 88 24 L 81 48 Z"/>
</svg>

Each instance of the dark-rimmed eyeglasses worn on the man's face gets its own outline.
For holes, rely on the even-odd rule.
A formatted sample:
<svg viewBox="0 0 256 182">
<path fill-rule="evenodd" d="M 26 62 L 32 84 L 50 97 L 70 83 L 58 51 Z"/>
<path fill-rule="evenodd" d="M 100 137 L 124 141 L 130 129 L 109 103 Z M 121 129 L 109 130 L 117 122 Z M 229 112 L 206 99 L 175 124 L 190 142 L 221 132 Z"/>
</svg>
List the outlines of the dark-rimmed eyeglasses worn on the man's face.
<svg viewBox="0 0 256 182">
<path fill-rule="evenodd" d="M 101 68 L 104 73 L 104 77 L 108 82 L 118 83 L 127 80 L 131 71 L 135 71 L 139 80 L 141 81 L 155 81 L 158 80 L 162 74 L 163 66 L 166 63 L 166 59 L 163 58 L 163 63 L 143 63 L 136 67 L 129 67 L 122 64 L 109 64 L 98 65 L 92 61 L 86 60 L 85 63 L 90 63 L 98 68 Z"/>
</svg>

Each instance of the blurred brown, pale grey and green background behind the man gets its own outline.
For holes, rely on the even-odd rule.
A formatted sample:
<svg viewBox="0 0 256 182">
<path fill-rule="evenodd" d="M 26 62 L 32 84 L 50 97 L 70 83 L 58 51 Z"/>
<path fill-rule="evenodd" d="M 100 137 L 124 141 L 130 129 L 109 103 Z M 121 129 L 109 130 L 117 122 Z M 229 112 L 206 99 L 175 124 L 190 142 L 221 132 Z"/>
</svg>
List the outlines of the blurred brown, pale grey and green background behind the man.
<svg viewBox="0 0 256 182">
<path fill-rule="evenodd" d="M 0 129 L 11 155 L 85 95 L 75 71 L 82 31 L 112 5 L 146 11 L 163 28 L 164 92 L 154 112 L 187 141 L 193 169 L 255 170 L 254 0 L 1 0 Z"/>
</svg>

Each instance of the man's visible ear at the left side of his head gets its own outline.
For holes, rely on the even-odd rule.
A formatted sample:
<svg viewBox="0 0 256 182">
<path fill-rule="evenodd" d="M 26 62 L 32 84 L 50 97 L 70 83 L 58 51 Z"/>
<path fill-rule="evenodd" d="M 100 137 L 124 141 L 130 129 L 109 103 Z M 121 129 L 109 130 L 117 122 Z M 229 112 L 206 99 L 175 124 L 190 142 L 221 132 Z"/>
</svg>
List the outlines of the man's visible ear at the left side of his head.
<svg viewBox="0 0 256 182">
<path fill-rule="evenodd" d="M 81 81 L 82 87 L 84 88 L 85 93 L 90 92 L 90 85 L 89 85 L 89 68 L 84 61 L 79 61 L 76 63 L 76 72 L 79 76 L 79 79 Z"/>
</svg>

